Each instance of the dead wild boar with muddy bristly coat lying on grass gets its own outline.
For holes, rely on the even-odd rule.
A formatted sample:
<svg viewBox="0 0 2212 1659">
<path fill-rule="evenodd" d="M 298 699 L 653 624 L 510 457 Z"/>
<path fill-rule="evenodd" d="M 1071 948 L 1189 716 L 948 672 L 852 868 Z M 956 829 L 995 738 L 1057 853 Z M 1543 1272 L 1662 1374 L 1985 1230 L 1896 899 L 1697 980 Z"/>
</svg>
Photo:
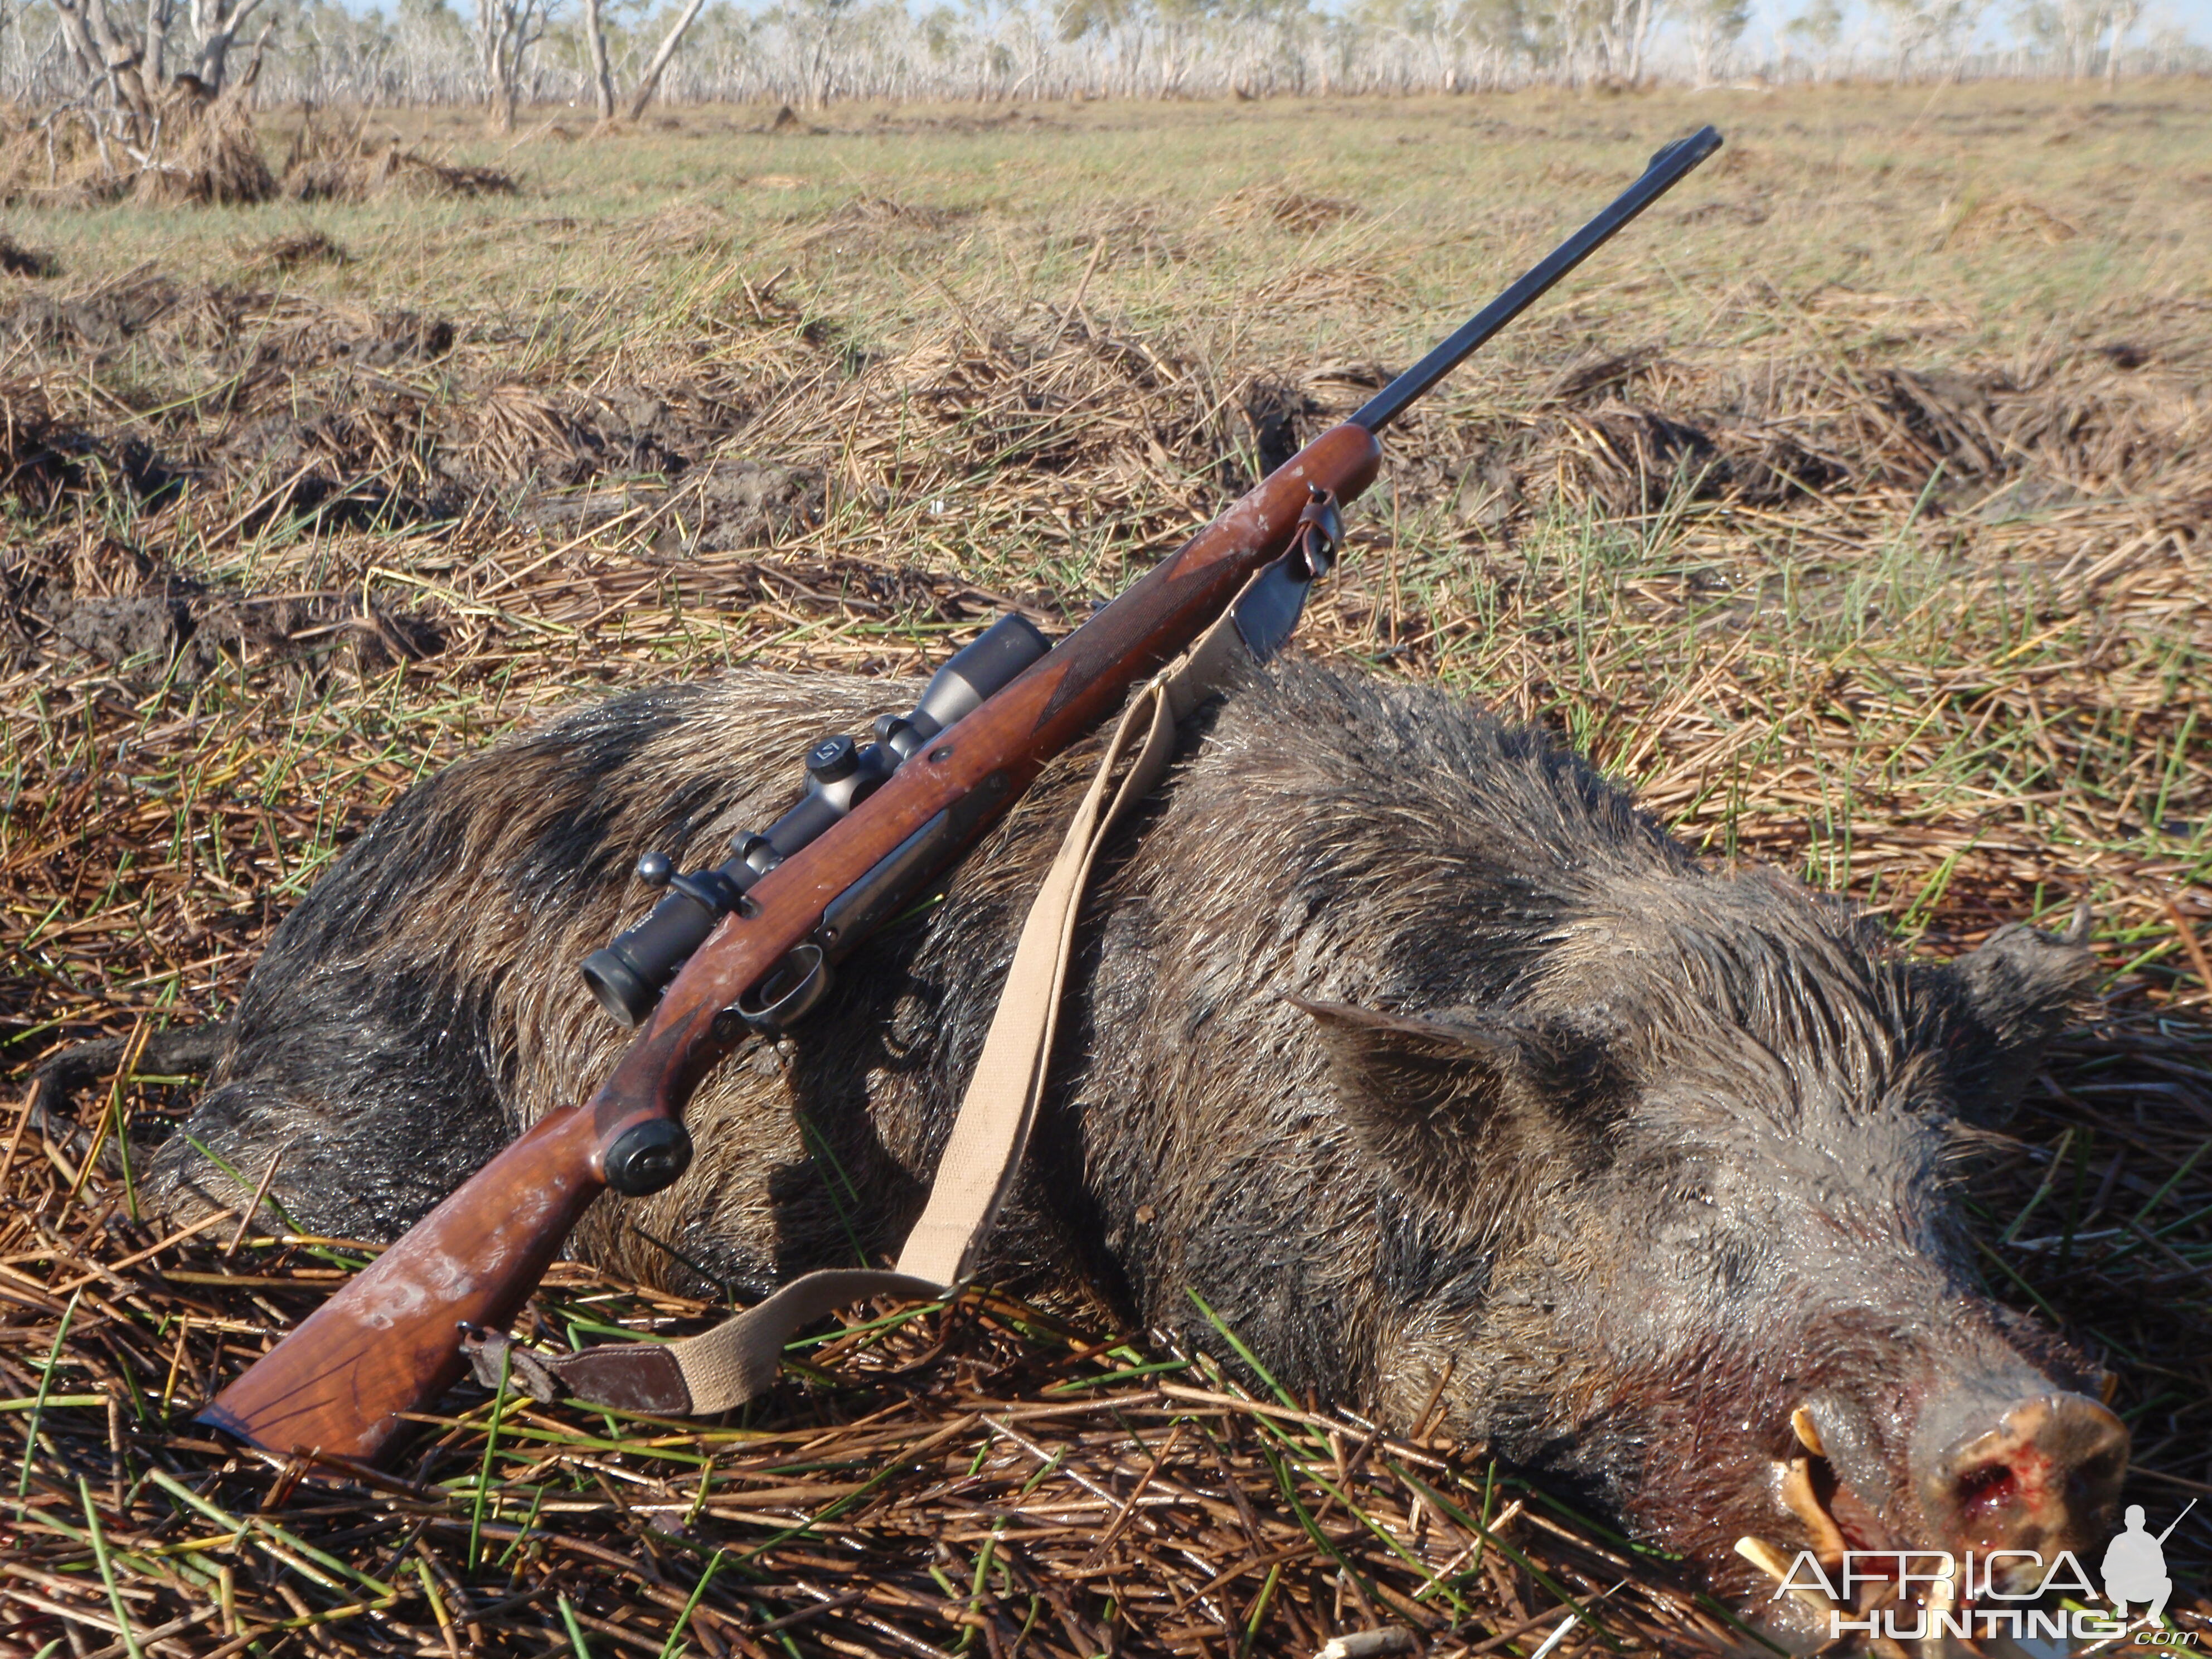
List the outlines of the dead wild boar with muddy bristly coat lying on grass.
<svg viewBox="0 0 2212 1659">
<path fill-rule="evenodd" d="M 305 1228 L 392 1239 L 624 1033 L 577 962 L 644 852 L 714 863 L 805 748 L 914 688 L 741 672 L 575 712 L 394 805 L 283 922 L 188 1126 Z M 2128 1436 L 1978 1287 L 1951 1168 L 2090 971 L 2006 929 L 1940 967 L 1721 872 L 1542 734 L 1312 664 L 1254 672 L 1088 907 L 989 1267 L 1571 1482 L 1723 1588 L 1732 1553 L 2101 1542 Z M 692 1170 L 593 1261 L 743 1298 L 896 1245 L 1091 761 L 940 905 L 699 1091 Z M 186 1135 L 175 1210 L 237 1188 Z"/>
</svg>

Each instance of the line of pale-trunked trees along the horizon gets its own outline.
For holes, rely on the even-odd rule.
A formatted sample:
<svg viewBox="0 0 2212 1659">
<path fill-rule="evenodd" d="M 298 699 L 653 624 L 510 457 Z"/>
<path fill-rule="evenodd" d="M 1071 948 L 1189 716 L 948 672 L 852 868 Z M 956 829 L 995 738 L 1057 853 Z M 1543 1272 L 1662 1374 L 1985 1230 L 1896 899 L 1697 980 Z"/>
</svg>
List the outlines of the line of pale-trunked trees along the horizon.
<svg viewBox="0 0 2212 1659">
<path fill-rule="evenodd" d="M 2117 77 L 2203 69 L 2143 0 L 0 0 L 0 97 L 148 119 L 259 80 L 316 104 L 1270 97 L 1526 84 Z M 1991 44 L 1991 24 L 2002 24 Z"/>
</svg>

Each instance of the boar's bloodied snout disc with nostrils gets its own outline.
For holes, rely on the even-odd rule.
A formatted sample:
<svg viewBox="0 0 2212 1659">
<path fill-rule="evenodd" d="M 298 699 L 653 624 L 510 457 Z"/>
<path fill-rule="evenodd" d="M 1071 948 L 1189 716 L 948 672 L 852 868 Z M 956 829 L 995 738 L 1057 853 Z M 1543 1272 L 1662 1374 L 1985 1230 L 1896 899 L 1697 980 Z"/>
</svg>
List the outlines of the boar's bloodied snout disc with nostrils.
<svg viewBox="0 0 2212 1659">
<path fill-rule="evenodd" d="M 2059 1551 L 2101 1542 L 2128 1471 L 2128 1429 L 2108 1409 L 2026 1374 L 1997 1374 L 1931 1400 L 1911 1438 L 1911 1475 L 1931 1537 L 1953 1553 Z M 2024 1559 L 2022 1571 L 2033 1573 Z"/>
</svg>

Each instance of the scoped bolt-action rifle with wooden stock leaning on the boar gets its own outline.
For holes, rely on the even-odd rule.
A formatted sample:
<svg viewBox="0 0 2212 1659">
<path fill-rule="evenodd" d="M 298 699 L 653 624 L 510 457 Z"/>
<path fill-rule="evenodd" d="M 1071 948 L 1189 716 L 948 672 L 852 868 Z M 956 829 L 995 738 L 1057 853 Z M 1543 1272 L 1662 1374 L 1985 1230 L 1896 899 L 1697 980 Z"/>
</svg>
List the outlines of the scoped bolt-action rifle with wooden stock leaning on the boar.
<svg viewBox="0 0 2212 1659">
<path fill-rule="evenodd" d="M 637 1026 L 615 1073 L 469 1177 L 201 1420 L 270 1451 L 374 1460 L 403 1413 L 460 1378 L 465 1332 L 504 1332 L 522 1312 L 593 1199 L 684 1175 L 699 1079 L 748 1033 L 803 1018 L 832 967 L 927 896 L 1055 754 L 1223 615 L 1270 655 L 1336 555 L 1340 504 L 1376 478 L 1376 436 L 1717 148 L 1708 126 L 1659 150 L 1451 338 L 1057 644 L 1002 617 L 874 743 L 816 745 L 799 805 L 739 836 L 728 863 L 679 876 L 657 854 L 641 860 L 666 896 L 584 964 L 606 1011 Z"/>
</svg>

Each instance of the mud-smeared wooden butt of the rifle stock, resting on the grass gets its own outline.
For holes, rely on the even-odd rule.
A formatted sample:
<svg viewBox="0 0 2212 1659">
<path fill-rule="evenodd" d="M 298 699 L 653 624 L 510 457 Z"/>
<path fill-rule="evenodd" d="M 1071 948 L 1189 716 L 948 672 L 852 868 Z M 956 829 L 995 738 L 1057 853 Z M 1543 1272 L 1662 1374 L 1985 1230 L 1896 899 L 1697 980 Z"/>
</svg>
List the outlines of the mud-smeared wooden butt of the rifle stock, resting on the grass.
<svg viewBox="0 0 2212 1659">
<path fill-rule="evenodd" d="M 460 1380 L 465 1325 L 504 1327 L 602 1192 L 593 1115 L 564 1108 L 469 1177 L 197 1420 L 263 1451 L 374 1462 Z"/>
</svg>

